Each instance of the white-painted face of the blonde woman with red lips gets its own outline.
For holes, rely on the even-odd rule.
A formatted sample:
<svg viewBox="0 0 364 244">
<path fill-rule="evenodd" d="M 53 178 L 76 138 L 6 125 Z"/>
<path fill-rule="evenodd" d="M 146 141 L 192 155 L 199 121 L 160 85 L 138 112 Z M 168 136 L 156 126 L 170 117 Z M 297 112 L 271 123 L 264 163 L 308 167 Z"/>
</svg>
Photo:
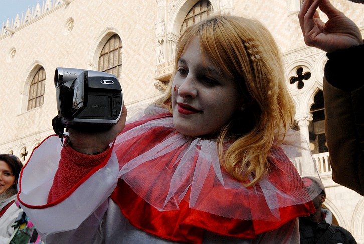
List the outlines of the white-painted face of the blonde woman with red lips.
<svg viewBox="0 0 364 244">
<path fill-rule="evenodd" d="M 177 131 L 188 136 L 214 133 L 240 109 L 241 100 L 235 83 L 202 56 L 198 38 L 192 39 L 178 60 L 172 85 Z"/>
</svg>

